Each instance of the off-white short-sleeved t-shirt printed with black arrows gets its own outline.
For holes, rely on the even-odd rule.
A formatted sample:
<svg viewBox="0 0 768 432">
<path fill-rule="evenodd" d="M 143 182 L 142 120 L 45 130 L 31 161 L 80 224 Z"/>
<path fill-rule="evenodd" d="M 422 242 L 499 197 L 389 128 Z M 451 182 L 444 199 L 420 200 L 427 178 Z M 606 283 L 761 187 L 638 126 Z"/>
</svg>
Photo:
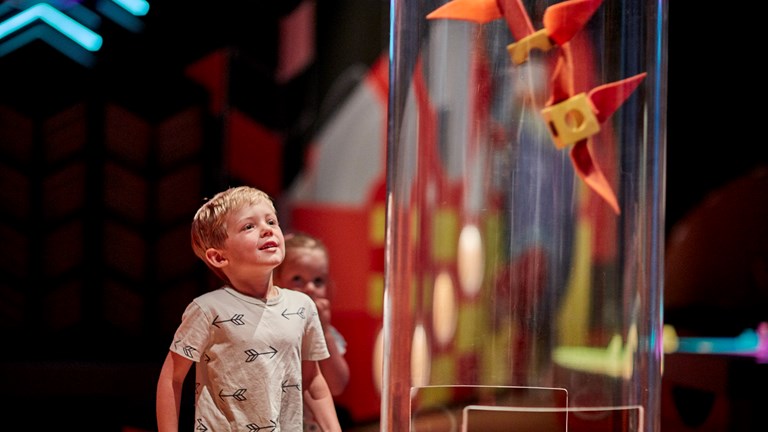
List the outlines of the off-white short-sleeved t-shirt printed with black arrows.
<svg viewBox="0 0 768 432">
<path fill-rule="evenodd" d="M 301 362 L 329 353 L 312 299 L 277 291 L 264 302 L 224 287 L 184 311 L 170 349 L 197 362 L 195 430 L 302 429 Z"/>
</svg>

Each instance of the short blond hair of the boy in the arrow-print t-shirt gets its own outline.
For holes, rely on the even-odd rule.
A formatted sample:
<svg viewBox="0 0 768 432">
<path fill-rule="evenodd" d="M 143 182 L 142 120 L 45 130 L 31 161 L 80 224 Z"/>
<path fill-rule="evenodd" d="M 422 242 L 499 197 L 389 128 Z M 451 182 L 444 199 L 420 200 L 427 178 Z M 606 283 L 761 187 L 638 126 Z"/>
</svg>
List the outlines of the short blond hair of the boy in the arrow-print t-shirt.
<svg viewBox="0 0 768 432">
<path fill-rule="evenodd" d="M 266 201 L 275 209 L 272 197 L 266 192 L 250 186 L 238 186 L 219 192 L 205 202 L 192 218 L 192 250 L 208 267 L 223 280 L 227 280 L 221 270 L 213 267 L 205 258 L 209 248 L 221 248 L 227 240 L 226 217 L 232 211 Z"/>
</svg>

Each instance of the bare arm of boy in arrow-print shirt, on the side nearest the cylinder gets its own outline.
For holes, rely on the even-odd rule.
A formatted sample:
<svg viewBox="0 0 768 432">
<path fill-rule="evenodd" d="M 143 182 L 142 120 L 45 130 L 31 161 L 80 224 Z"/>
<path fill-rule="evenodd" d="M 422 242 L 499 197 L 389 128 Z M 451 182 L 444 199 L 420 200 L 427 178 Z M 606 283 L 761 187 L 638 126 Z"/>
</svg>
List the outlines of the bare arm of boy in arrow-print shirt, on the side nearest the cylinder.
<svg viewBox="0 0 768 432">
<path fill-rule="evenodd" d="M 341 432 L 333 396 L 320 372 L 318 362 L 302 361 L 301 374 L 304 403 L 312 411 L 315 421 L 324 432 Z"/>
</svg>

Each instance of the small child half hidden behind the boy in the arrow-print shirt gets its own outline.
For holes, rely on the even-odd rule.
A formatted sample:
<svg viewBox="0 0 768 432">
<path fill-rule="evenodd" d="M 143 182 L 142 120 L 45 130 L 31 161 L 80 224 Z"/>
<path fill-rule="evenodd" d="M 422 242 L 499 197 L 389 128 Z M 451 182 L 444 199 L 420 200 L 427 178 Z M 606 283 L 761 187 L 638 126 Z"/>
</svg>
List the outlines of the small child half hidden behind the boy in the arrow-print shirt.
<svg viewBox="0 0 768 432">
<path fill-rule="evenodd" d="M 301 291 L 315 301 L 330 352 L 330 357 L 320 362 L 320 370 L 331 394 L 340 395 L 349 382 L 349 365 L 344 358 L 347 342 L 331 324 L 328 249 L 320 239 L 308 234 L 286 235 L 285 259 L 275 269 L 274 277 L 278 286 Z M 312 417 L 309 414 L 307 411 L 304 413 L 304 430 L 311 432 L 316 429 L 312 428 Z"/>
</svg>

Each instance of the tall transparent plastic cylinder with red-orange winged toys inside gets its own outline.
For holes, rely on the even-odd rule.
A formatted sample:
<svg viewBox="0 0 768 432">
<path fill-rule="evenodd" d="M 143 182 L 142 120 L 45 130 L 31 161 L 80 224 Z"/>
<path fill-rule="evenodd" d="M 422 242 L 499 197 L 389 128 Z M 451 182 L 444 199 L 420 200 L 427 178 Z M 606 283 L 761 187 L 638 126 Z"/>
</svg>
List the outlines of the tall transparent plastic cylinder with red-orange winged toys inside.
<svg viewBox="0 0 768 432">
<path fill-rule="evenodd" d="M 666 2 L 391 4 L 381 430 L 660 430 Z"/>
</svg>

